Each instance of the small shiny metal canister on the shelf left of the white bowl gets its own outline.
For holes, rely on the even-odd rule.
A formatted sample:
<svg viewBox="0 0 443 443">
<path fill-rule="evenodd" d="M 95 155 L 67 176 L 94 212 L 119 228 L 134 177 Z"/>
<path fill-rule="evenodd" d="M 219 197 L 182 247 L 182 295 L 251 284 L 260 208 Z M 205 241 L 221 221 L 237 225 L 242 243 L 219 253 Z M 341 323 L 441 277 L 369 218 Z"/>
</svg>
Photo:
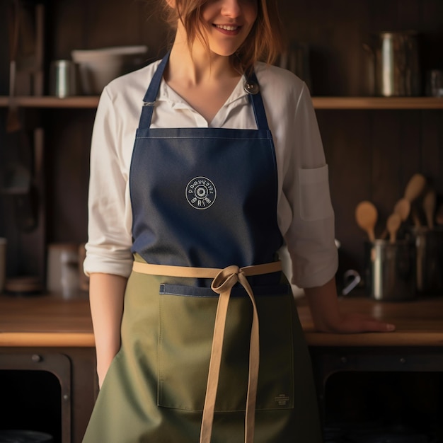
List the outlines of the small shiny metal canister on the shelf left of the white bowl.
<svg viewBox="0 0 443 443">
<path fill-rule="evenodd" d="M 55 60 L 50 69 L 50 95 L 59 98 L 79 93 L 78 66 L 71 60 Z"/>
</svg>

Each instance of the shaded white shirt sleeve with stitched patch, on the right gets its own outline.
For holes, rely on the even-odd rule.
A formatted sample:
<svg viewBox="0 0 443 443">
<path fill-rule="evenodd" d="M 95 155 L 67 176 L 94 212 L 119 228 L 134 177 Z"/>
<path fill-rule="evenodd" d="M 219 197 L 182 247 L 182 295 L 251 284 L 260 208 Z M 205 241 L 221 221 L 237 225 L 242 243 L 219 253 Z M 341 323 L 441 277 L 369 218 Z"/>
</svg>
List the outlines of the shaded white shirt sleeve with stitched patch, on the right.
<svg viewBox="0 0 443 443">
<path fill-rule="evenodd" d="M 334 277 L 338 251 L 328 165 L 306 85 L 296 103 L 295 109 L 289 108 L 287 134 L 277 137 L 282 144 L 277 149 L 283 149 L 279 217 L 292 260 L 292 283 L 307 288 Z"/>
</svg>

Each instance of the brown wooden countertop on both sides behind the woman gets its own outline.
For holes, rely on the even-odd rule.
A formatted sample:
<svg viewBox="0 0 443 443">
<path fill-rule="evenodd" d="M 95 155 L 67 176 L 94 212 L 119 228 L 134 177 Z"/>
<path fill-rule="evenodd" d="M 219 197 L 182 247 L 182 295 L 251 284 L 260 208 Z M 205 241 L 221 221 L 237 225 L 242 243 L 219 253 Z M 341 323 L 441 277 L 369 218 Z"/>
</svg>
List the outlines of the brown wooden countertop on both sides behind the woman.
<svg viewBox="0 0 443 443">
<path fill-rule="evenodd" d="M 365 297 L 340 299 L 343 312 L 367 313 L 394 323 L 393 333 L 326 334 L 313 330 L 306 301 L 297 299 L 301 324 L 311 346 L 442 346 L 443 296 L 402 303 Z M 0 347 L 93 347 L 86 294 L 76 299 L 55 295 L 0 295 Z"/>
</svg>

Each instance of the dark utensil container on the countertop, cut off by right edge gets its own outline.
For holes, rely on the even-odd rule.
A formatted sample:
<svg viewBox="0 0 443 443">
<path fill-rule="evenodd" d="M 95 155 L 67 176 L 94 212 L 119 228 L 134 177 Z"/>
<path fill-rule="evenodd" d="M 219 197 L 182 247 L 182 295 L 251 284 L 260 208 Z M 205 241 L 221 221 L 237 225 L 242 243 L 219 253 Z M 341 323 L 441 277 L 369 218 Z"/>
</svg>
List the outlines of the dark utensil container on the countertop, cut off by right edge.
<svg viewBox="0 0 443 443">
<path fill-rule="evenodd" d="M 443 294 L 443 226 L 420 226 L 413 231 L 417 248 L 417 289 Z"/>
</svg>

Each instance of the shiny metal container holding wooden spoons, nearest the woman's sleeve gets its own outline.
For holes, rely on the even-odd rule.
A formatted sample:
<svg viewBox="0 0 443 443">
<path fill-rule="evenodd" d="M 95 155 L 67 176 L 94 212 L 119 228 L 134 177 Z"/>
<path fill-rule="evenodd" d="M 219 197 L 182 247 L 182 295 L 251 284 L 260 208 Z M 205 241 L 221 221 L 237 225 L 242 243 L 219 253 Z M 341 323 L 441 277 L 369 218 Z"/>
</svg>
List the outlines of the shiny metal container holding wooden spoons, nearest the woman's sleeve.
<svg viewBox="0 0 443 443">
<path fill-rule="evenodd" d="M 413 241 L 385 240 L 364 245 L 367 294 L 384 301 L 405 301 L 416 296 L 416 251 Z"/>
</svg>

